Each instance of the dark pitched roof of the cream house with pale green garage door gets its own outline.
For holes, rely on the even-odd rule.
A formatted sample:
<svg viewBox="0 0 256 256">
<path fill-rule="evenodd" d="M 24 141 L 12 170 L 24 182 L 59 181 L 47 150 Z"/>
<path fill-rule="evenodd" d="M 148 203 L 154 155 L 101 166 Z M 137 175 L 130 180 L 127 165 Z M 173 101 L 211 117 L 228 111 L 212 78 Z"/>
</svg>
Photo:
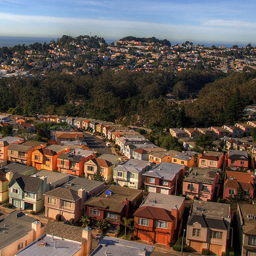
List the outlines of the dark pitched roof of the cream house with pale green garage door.
<svg viewBox="0 0 256 256">
<path fill-rule="evenodd" d="M 13 174 L 13 177 L 8 186 L 11 186 L 14 181 L 16 181 L 18 183 L 19 187 L 23 191 L 32 192 L 32 193 L 37 193 L 37 191 L 42 183 L 41 179 L 38 179 L 38 178 L 35 178 L 32 176 L 16 174 L 16 173 Z"/>
</svg>

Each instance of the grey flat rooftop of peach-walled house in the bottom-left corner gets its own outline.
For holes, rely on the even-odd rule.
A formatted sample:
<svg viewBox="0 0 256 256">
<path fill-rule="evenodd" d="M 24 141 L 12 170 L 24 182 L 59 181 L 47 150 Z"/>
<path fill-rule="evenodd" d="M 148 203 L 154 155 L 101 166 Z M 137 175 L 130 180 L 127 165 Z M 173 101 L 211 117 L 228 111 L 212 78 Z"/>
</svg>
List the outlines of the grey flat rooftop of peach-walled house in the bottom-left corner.
<svg viewBox="0 0 256 256">
<path fill-rule="evenodd" d="M 25 216 L 23 212 L 13 211 L 2 222 L 0 228 L 0 250 L 27 236 L 32 230 L 32 222 L 37 221 Z M 6 226 L 4 226 L 6 224 Z M 5 231 L 5 233 L 3 232 Z"/>
</svg>

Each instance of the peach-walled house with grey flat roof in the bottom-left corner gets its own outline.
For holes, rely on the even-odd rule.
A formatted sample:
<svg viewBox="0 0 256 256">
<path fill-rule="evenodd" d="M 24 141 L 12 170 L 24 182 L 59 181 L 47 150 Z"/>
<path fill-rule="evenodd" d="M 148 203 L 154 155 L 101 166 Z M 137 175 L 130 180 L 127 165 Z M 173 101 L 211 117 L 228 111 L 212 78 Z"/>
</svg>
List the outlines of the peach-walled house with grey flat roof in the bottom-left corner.
<svg viewBox="0 0 256 256">
<path fill-rule="evenodd" d="M 1 222 L 0 254 L 14 256 L 44 233 L 45 226 L 40 221 L 26 216 L 21 211 L 11 212 Z"/>
</svg>

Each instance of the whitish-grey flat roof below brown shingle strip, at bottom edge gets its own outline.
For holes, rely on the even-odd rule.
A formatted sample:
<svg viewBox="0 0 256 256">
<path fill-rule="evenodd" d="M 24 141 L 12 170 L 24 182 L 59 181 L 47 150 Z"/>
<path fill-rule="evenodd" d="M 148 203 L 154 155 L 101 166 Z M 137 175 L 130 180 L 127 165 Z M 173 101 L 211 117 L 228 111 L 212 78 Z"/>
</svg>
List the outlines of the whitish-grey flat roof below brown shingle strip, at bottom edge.
<svg viewBox="0 0 256 256">
<path fill-rule="evenodd" d="M 39 242 L 43 240 L 46 246 L 40 245 Z M 55 248 L 56 245 L 56 248 Z M 17 252 L 16 256 L 72 256 L 81 250 L 82 243 L 71 241 L 63 238 L 58 238 L 50 234 L 44 234 L 41 239 L 34 241 L 23 250 Z"/>
</svg>

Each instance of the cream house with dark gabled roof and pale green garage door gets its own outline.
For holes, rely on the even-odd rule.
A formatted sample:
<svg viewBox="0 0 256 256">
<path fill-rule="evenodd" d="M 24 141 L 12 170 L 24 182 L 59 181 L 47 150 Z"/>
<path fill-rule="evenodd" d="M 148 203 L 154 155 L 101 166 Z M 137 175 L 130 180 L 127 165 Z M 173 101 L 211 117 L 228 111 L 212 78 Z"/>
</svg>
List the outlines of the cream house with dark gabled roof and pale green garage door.
<svg viewBox="0 0 256 256">
<path fill-rule="evenodd" d="M 9 203 L 14 207 L 35 212 L 44 207 L 44 192 L 47 191 L 47 177 L 35 178 L 22 174 L 7 173 L 6 178 L 10 180 Z"/>
</svg>

